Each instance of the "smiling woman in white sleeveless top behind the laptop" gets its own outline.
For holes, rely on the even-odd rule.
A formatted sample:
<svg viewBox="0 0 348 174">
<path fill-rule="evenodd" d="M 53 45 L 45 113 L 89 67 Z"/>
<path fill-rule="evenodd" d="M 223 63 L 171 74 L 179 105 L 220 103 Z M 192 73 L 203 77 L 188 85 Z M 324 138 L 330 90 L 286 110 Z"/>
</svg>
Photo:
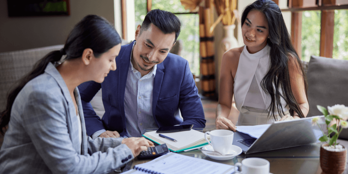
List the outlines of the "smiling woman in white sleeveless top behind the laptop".
<svg viewBox="0 0 348 174">
<path fill-rule="evenodd" d="M 245 46 L 222 56 L 216 128 L 236 130 L 228 119 L 233 95 L 238 126 L 306 117 L 306 77 L 278 5 L 271 0 L 248 5 L 242 34 Z"/>
</svg>

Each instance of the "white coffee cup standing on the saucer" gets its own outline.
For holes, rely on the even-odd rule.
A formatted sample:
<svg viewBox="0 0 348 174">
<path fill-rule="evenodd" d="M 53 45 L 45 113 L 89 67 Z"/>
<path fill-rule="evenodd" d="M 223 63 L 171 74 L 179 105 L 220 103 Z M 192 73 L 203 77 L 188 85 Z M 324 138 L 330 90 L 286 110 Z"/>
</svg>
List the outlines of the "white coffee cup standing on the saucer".
<svg viewBox="0 0 348 174">
<path fill-rule="evenodd" d="M 231 130 L 217 129 L 208 131 L 204 134 L 205 140 L 213 147 L 214 151 L 221 155 L 226 155 L 232 147 L 233 133 Z M 207 139 L 207 134 L 210 135 L 210 141 Z"/>
</svg>

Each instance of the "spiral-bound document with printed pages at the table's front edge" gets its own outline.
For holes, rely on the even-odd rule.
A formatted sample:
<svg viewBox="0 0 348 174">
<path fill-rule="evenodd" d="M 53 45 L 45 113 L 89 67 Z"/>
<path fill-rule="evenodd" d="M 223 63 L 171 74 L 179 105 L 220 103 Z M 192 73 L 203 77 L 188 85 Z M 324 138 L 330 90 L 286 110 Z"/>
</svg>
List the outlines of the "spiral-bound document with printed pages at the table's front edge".
<svg viewBox="0 0 348 174">
<path fill-rule="evenodd" d="M 124 174 L 232 174 L 234 166 L 169 152 Z"/>
</svg>

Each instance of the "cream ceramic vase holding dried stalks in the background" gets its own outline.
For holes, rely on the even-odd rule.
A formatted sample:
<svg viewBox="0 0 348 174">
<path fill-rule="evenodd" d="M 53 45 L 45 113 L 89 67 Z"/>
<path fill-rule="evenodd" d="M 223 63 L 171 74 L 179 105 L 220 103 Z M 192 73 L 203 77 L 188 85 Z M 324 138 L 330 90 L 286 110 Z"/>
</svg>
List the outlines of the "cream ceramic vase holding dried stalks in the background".
<svg viewBox="0 0 348 174">
<path fill-rule="evenodd" d="M 223 29 L 225 30 L 225 37 L 222 39 L 222 49 L 224 52 L 231 48 L 238 47 L 238 41 L 235 38 L 234 30 L 236 28 L 235 24 L 232 25 L 224 25 Z"/>
</svg>

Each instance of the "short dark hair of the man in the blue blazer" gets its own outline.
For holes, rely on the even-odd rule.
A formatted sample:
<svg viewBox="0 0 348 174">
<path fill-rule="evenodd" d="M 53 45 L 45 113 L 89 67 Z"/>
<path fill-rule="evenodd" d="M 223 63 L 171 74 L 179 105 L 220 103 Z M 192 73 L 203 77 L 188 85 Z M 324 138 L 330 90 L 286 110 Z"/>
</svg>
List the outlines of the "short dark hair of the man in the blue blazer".
<svg viewBox="0 0 348 174">
<path fill-rule="evenodd" d="M 140 34 L 149 29 L 150 24 L 157 26 L 164 34 L 175 33 L 175 40 L 180 34 L 181 22 L 173 13 L 160 9 L 149 11 L 141 25 Z"/>
</svg>

